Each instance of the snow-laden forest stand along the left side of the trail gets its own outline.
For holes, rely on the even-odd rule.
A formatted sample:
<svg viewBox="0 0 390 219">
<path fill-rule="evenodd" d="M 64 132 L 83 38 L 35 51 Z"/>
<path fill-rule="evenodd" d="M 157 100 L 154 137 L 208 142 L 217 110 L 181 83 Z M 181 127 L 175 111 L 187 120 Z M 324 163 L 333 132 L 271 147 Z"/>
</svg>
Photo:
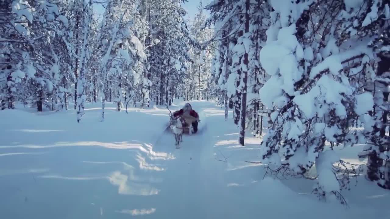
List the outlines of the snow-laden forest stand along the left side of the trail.
<svg viewBox="0 0 390 219">
<path fill-rule="evenodd" d="M 74 107 L 80 120 L 85 102 L 113 101 L 120 111 L 129 101 L 210 99 L 213 52 L 199 42 L 213 31 L 202 10 L 188 26 L 180 2 L 108 0 L 94 16 L 93 0 L 3 1 L 2 109 Z"/>
</svg>

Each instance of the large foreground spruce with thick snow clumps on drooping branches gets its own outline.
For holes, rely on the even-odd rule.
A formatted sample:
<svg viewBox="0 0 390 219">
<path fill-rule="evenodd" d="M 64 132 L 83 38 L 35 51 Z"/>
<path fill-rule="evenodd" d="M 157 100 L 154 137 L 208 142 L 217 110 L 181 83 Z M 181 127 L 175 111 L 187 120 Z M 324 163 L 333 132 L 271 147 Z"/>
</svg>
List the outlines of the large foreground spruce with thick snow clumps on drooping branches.
<svg viewBox="0 0 390 219">
<path fill-rule="evenodd" d="M 316 162 L 316 191 L 344 202 L 344 183 L 333 170 L 339 158 L 332 149 L 365 143 L 363 132 L 353 128 L 358 120 L 370 126 L 367 117 L 374 102 L 362 87 L 364 81 L 355 83 L 353 76 L 361 74 L 356 67 L 374 64 L 367 47 L 372 36 L 351 34 L 343 20 L 358 21 L 344 10 L 344 1 L 274 3 L 267 44 L 260 52 L 261 65 L 271 77 L 259 93 L 273 110 L 261 143 L 263 162 L 292 174 L 304 174 Z M 326 142 L 331 148 L 325 151 Z"/>
</svg>

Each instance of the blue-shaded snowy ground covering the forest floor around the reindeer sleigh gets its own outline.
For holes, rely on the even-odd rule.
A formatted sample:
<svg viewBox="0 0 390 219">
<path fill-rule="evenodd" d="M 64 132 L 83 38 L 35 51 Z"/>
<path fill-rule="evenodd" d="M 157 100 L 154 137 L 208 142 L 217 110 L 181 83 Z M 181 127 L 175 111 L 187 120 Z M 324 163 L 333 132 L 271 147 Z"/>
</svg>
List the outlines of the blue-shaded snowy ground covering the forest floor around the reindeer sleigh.
<svg viewBox="0 0 390 219">
<path fill-rule="evenodd" d="M 126 114 L 108 104 L 99 122 L 99 105 L 87 104 L 81 124 L 73 110 L 1 111 L 0 218 L 390 218 L 390 192 L 364 178 L 343 191 L 349 209 L 307 194 L 311 180 L 263 179 L 244 162 L 258 160 L 260 140 L 238 146 L 222 108 L 191 104 L 202 122 L 181 149 L 164 132 L 164 108 Z M 339 153 L 356 161 L 360 150 Z"/>
</svg>

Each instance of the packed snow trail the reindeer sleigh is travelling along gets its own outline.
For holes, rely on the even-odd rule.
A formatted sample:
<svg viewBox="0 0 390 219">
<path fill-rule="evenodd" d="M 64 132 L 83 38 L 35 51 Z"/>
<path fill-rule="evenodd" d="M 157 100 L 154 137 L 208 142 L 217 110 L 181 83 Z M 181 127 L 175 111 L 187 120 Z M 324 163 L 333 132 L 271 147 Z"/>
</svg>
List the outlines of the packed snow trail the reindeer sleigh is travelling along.
<svg viewBox="0 0 390 219">
<path fill-rule="evenodd" d="M 161 198 L 166 197 L 163 191 L 167 191 L 173 205 L 170 208 L 175 210 L 156 210 L 154 216 L 194 219 L 256 216 L 253 211 L 244 210 L 255 209 L 255 200 L 248 199 L 246 207 L 242 205 L 243 200 L 235 197 L 233 190 L 227 186 L 227 162 L 218 161 L 215 157 L 217 137 L 224 136 L 227 131 L 223 128 L 224 111 L 216 109 L 215 103 L 210 102 L 191 102 L 191 105 L 201 115 L 199 132 L 192 136 L 184 135 L 180 149 L 174 148 L 171 134 L 166 134 L 156 144 L 156 150 L 164 147 L 167 153 L 176 157 L 169 161 L 161 188 Z M 219 159 L 224 160 L 222 157 Z"/>
</svg>

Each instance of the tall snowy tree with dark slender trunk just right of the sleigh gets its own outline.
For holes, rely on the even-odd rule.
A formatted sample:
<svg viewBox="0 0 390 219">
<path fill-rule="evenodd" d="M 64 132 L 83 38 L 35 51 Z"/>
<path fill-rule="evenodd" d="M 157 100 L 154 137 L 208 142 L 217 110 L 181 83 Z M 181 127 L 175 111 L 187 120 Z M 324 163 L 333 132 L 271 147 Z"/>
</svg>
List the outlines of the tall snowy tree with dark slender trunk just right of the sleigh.
<svg viewBox="0 0 390 219">
<path fill-rule="evenodd" d="M 213 61 L 215 67 L 213 71 L 219 75 L 218 83 L 220 90 L 223 91 L 225 120 L 227 120 L 228 102 L 233 103 L 234 123 L 240 128 L 239 143 L 241 145 L 244 145 L 245 131 L 248 126 L 247 114 L 257 114 L 259 108 L 247 110 L 247 95 L 248 84 L 251 85 L 250 93 L 252 90 L 259 89 L 257 74 L 259 74 L 260 67 L 256 54 L 260 49 L 260 21 L 264 18 L 264 13 L 260 10 L 260 6 L 264 6 L 262 4 L 264 4 L 263 1 L 251 4 L 250 1 L 231 0 L 214 1 L 207 6 L 207 9 L 211 11 L 209 20 L 213 21 L 216 27 L 215 40 L 219 41 L 216 59 Z M 258 104 L 257 101 L 255 106 Z"/>
</svg>

